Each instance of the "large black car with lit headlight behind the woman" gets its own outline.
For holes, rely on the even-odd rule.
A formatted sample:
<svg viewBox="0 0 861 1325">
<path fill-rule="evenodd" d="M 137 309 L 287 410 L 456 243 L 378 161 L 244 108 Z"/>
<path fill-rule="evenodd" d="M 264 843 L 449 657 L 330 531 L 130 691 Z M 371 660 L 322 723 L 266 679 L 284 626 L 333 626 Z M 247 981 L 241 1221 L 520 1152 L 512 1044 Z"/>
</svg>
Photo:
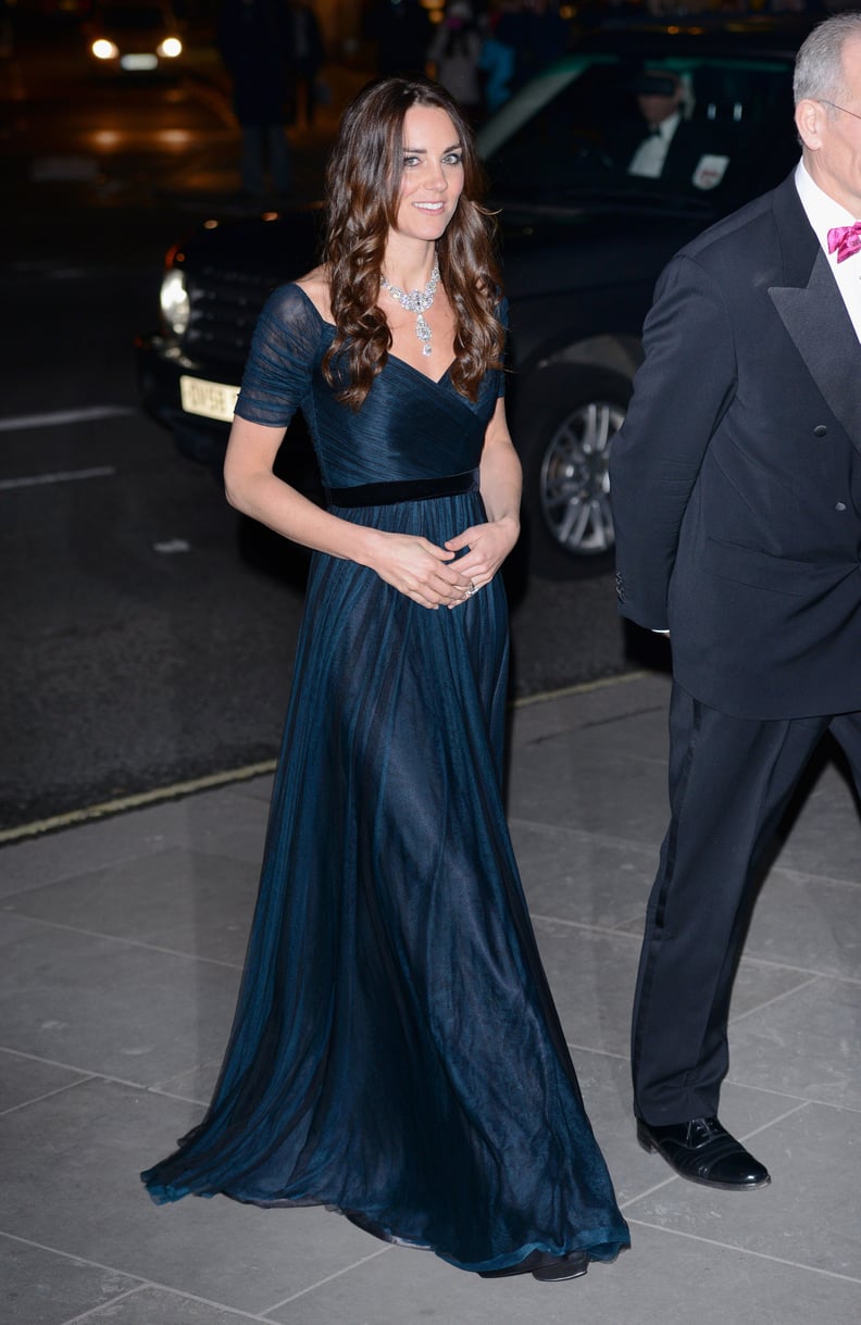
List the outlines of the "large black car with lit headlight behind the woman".
<svg viewBox="0 0 861 1325">
<path fill-rule="evenodd" d="M 682 244 L 797 160 L 792 66 L 808 30 L 809 20 L 768 17 L 604 28 L 482 127 L 532 572 L 567 578 L 611 563 L 608 453 L 656 278 Z M 637 94 L 662 76 L 682 89 L 693 155 L 657 179 L 631 175 Z M 140 339 L 139 370 L 146 407 L 187 454 L 220 462 L 260 307 L 314 265 L 319 215 L 209 223 L 170 254 L 162 330 Z"/>
</svg>

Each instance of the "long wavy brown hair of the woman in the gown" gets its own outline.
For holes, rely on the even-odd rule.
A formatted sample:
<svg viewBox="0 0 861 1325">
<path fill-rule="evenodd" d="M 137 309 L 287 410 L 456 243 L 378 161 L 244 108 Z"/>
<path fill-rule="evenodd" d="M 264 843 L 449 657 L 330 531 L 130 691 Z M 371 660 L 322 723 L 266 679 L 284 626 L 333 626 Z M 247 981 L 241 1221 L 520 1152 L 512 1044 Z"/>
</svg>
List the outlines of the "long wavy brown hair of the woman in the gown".
<svg viewBox="0 0 861 1325">
<path fill-rule="evenodd" d="M 350 103 L 326 168 L 329 269 L 335 339 L 323 374 L 338 399 L 358 409 L 392 344 L 379 307 L 380 272 L 389 227 L 397 219 L 404 117 L 411 106 L 444 110 L 464 148 L 464 191 L 437 244 L 440 277 L 454 313 L 452 384 L 474 400 L 489 368 L 502 363 L 505 331 L 495 221 L 481 204 L 485 179 L 469 123 L 445 87 L 428 78 L 378 78 Z"/>
</svg>

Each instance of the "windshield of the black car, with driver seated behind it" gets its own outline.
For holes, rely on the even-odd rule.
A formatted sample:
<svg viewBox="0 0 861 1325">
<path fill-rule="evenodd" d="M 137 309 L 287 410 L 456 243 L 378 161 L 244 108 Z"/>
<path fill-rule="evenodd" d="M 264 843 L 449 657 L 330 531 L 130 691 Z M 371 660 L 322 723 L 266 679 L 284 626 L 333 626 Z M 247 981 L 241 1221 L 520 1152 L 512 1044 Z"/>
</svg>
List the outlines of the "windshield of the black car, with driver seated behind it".
<svg viewBox="0 0 861 1325">
<path fill-rule="evenodd" d="M 660 178 L 632 174 L 648 136 L 644 95 L 678 97 Z M 792 65 L 678 57 L 574 56 L 536 78 L 482 129 L 478 148 L 501 203 L 576 205 L 603 196 L 642 207 L 729 211 L 776 184 L 797 159 Z"/>
</svg>

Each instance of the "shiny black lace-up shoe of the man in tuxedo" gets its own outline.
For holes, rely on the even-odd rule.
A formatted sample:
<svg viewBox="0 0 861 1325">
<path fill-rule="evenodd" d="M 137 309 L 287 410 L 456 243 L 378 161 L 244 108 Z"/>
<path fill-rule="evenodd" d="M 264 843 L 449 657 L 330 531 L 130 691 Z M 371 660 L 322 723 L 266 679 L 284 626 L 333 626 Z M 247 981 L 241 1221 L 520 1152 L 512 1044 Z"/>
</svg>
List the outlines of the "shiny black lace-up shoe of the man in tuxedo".
<svg viewBox="0 0 861 1325">
<path fill-rule="evenodd" d="M 637 1141 L 657 1150 L 680 1178 L 722 1191 L 755 1191 L 771 1182 L 768 1170 L 715 1118 L 691 1118 L 653 1128 L 637 1120 Z"/>
</svg>

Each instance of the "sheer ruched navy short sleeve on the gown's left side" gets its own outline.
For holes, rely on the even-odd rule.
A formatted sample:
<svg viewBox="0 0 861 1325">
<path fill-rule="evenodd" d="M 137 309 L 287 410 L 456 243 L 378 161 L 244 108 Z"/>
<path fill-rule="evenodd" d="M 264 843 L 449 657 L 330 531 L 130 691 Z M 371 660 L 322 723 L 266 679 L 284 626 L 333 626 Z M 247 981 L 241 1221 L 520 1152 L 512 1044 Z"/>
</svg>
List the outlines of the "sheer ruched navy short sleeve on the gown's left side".
<svg viewBox="0 0 861 1325">
<path fill-rule="evenodd" d="M 249 423 L 286 428 L 311 390 L 323 322 L 297 285 L 269 295 L 252 338 L 236 413 Z"/>
</svg>

